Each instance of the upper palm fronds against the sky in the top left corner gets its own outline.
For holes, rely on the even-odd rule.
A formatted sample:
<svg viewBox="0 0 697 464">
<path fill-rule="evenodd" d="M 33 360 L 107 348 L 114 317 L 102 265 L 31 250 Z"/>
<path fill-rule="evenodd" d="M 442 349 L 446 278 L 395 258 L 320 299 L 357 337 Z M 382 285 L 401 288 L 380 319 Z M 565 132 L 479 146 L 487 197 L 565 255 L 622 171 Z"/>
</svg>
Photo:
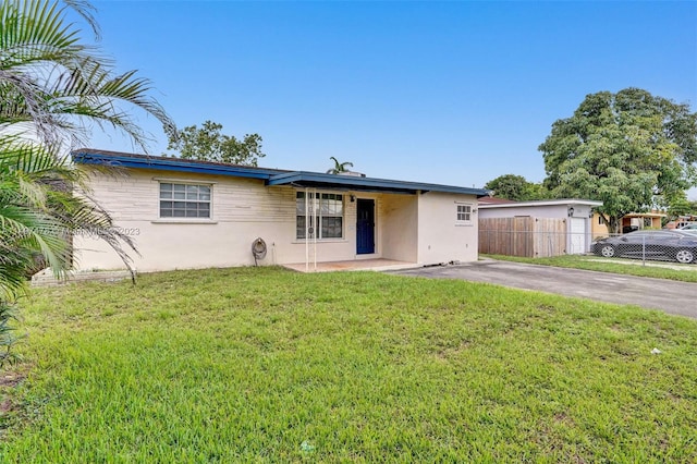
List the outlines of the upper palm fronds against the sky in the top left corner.
<svg viewBox="0 0 697 464">
<path fill-rule="evenodd" d="M 95 47 L 81 42 L 69 9 L 94 27 L 91 5 L 82 0 L 3 0 L 0 3 L 0 131 L 30 129 L 47 143 L 82 142 L 84 122 L 121 130 L 143 149 L 147 137 L 119 105 L 155 115 L 171 135 L 173 121 L 147 96 L 148 80 L 135 71 L 115 75 Z"/>
</svg>

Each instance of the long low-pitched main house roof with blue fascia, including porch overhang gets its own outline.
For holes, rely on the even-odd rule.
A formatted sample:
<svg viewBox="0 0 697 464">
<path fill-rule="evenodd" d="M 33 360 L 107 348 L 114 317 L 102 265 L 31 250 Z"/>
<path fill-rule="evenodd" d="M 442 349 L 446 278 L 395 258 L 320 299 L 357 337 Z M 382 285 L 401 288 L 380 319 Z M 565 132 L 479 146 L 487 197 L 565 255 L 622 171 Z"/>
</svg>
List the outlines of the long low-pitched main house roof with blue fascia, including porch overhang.
<svg viewBox="0 0 697 464">
<path fill-rule="evenodd" d="M 134 155 L 83 148 L 72 152 L 73 160 L 82 164 L 110 164 L 132 169 L 193 172 L 198 174 L 229 175 L 264 180 L 267 185 L 292 185 L 296 187 L 338 188 L 388 193 L 442 192 L 462 195 L 488 196 L 489 191 L 423 182 L 394 181 L 389 179 L 359 178 L 354 175 L 327 174 L 321 172 L 288 171 L 198 161 L 181 158 Z"/>
</svg>

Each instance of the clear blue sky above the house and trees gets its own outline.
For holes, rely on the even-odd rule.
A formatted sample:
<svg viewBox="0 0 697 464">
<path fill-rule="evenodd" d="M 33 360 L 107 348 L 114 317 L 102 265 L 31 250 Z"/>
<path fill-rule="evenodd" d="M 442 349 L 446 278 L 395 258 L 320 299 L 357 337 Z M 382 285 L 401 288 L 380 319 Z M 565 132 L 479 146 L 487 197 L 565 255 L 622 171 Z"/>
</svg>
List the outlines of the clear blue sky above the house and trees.
<svg viewBox="0 0 697 464">
<path fill-rule="evenodd" d="M 334 156 L 377 178 L 538 182 L 537 147 L 587 94 L 640 87 L 697 110 L 692 1 L 95 5 L 100 47 L 154 82 L 178 126 L 258 133 L 269 168 L 323 172 Z M 134 150 L 113 134 L 89 145 Z"/>
</svg>

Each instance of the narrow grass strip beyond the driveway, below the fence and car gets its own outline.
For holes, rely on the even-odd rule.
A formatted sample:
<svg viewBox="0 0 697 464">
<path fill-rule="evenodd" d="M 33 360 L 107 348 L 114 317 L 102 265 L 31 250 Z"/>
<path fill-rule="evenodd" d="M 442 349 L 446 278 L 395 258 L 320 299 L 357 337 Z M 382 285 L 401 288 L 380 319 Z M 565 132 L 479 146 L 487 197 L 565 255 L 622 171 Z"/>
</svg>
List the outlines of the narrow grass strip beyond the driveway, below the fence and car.
<svg viewBox="0 0 697 464">
<path fill-rule="evenodd" d="M 528 262 L 531 265 L 557 266 L 560 268 L 585 269 L 697 283 L 696 264 L 680 265 L 677 262 L 647 261 L 646 266 L 644 266 L 640 259 L 614 258 L 609 260 L 607 258 L 590 255 L 562 255 L 548 258 L 524 258 L 519 256 L 503 255 L 481 256 L 502 261 Z"/>
</svg>

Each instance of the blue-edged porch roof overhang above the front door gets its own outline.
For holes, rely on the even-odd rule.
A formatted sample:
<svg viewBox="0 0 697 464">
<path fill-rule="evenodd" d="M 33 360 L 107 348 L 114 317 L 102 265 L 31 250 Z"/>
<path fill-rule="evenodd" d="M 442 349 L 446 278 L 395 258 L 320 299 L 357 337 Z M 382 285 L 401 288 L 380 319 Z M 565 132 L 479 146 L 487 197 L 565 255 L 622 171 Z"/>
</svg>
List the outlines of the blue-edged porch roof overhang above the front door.
<svg viewBox="0 0 697 464">
<path fill-rule="evenodd" d="M 426 184 L 423 182 L 392 181 L 388 179 L 358 178 L 355 175 L 321 174 L 318 172 L 284 172 L 272 175 L 268 185 L 296 185 L 308 187 L 344 187 L 359 191 L 416 193 L 442 192 L 461 195 L 488 196 L 484 188 L 456 187 L 452 185 Z"/>
</svg>

